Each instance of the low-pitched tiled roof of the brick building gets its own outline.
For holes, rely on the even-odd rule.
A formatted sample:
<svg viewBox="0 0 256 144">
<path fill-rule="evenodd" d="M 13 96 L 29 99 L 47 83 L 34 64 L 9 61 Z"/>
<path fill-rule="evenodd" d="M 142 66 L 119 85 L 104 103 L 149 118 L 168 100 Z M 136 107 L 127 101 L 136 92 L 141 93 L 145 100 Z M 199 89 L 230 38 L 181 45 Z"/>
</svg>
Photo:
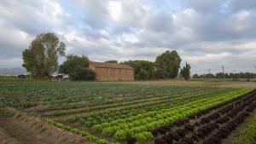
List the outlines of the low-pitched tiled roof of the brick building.
<svg viewBox="0 0 256 144">
<path fill-rule="evenodd" d="M 96 67 L 104 67 L 104 68 L 118 68 L 118 69 L 131 69 L 133 68 L 128 65 L 124 64 L 114 64 L 114 63 L 107 63 L 107 62 L 95 62 L 95 61 L 90 61 L 91 66 L 96 66 Z"/>
</svg>

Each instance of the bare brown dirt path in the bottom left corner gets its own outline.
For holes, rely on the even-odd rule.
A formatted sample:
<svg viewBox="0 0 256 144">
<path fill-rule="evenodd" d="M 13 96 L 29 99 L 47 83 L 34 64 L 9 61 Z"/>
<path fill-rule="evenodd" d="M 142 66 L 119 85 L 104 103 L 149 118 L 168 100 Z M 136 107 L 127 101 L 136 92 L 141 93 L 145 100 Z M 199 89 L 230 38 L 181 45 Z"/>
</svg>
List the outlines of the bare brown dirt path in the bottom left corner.
<svg viewBox="0 0 256 144">
<path fill-rule="evenodd" d="M 81 135 L 73 135 L 57 129 L 40 118 L 24 112 L 15 112 L 15 117 L 0 116 L 0 144 L 89 144 Z"/>
</svg>

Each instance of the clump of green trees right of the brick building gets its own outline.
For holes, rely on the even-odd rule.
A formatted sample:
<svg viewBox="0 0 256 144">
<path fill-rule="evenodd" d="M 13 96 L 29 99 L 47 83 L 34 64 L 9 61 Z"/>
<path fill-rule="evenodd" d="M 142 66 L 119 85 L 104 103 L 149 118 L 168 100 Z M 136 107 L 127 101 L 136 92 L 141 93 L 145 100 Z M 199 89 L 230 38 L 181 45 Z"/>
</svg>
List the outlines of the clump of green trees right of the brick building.
<svg viewBox="0 0 256 144">
<path fill-rule="evenodd" d="M 135 79 L 150 80 L 150 79 L 166 79 L 177 78 L 182 59 L 177 54 L 177 51 L 167 50 L 165 53 L 158 55 L 155 61 L 148 60 L 129 60 L 121 62 L 134 68 Z M 190 66 L 186 64 L 180 75 L 186 80 L 189 79 Z"/>
</svg>

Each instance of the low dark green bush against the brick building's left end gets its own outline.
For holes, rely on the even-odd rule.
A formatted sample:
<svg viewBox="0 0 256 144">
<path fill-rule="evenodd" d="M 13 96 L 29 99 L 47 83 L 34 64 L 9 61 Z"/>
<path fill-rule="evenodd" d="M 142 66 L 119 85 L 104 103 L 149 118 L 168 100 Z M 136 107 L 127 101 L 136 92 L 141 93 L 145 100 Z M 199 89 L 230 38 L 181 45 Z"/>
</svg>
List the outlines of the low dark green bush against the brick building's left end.
<svg viewBox="0 0 256 144">
<path fill-rule="evenodd" d="M 69 73 L 69 78 L 73 81 L 95 80 L 96 73 L 90 68 L 76 67 L 73 72 Z"/>
</svg>

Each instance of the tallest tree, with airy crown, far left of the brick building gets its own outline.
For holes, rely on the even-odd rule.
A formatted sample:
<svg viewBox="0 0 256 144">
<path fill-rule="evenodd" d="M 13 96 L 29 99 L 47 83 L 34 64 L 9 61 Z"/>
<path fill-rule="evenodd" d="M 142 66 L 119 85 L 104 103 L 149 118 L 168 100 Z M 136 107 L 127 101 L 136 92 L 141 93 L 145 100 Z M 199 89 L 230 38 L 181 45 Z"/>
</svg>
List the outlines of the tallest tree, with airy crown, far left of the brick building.
<svg viewBox="0 0 256 144">
<path fill-rule="evenodd" d="M 66 45 L 54 33 L 39 34 L 22 52 L 23 67 L 34 78 L 49 77 L 58 68 L 58 57 L 65 55 Z"/>
</svg>

